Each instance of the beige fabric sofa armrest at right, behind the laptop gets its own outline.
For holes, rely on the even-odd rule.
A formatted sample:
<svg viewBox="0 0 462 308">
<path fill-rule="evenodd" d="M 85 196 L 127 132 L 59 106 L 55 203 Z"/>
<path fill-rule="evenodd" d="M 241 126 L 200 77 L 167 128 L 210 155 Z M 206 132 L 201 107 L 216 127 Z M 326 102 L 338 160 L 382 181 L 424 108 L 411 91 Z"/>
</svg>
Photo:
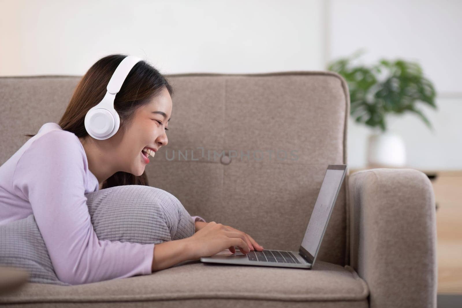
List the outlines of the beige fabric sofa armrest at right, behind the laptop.
<svg viewBox="0 0 462 308">
<path fill-rule="evenodd" d="M 436 307 L 435 195 L 414 169 L 369 169 L 348 178 L 351 266 L 370 307 Z"/>
</svg>

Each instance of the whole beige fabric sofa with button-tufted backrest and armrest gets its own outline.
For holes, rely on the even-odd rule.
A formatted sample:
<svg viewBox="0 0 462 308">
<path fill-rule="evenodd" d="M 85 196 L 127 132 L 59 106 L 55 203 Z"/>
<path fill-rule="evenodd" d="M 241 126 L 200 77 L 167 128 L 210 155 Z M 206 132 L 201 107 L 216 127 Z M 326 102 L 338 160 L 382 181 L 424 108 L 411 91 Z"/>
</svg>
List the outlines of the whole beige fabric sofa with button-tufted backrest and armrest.
<svg viewBox="0 0 462 308">
<path fill-rule="evenodd" d="M 345 80 L 333 72 L 167 77 L 176 91 L 169 144 L 146 166 L 150 185 L 173 193 L 191 215 L 245 231 L 265 249 L 298 250 L 328 164 L 348 164 Z M 27 140 L 23 133 L 59 121 L 79 78 L 0 78 L 1 163 Z M 186 150 L 188 159 L 165 156 Z M 312 270 L 190 260 L 71 287 L 26 283 L 2 294 L 0 304 L 436 307 L 435 244 L 426 175 L 370 169 L 346 176 Z"/>
</svg>

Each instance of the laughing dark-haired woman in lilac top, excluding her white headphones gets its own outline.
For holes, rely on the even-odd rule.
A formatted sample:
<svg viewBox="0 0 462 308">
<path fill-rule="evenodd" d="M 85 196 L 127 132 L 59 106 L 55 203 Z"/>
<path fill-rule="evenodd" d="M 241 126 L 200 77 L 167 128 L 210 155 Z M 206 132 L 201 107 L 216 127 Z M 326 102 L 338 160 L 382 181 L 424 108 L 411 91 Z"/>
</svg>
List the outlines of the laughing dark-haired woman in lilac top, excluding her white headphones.
<svg viewBox="0 0 462 308">
<path fill-rule="evenodd" d="M 150 274 L 226 248 L 235 253 L 234 246 L 243 254 L 254 247 L 263 250 L 246 233 L 198 216 L 193 217 L 195 234 L 181 240 L 98 240 L 85 194 L 122 185 L 149 186 L 148 157 L 168 143 L 173 90 L 145 61 L 133 66 L 115 97 L 117 133 L 105 140 L 87 133 L 85 115 L 103 99 L 125 57 L 109 55 L 91 66 L 59 123 L 46 123 L 37 135 L 27 134 L 32 138 L 0 167 L 0 224 L 33 214 L 57 277 L 69 284 Z"/>
</svg>

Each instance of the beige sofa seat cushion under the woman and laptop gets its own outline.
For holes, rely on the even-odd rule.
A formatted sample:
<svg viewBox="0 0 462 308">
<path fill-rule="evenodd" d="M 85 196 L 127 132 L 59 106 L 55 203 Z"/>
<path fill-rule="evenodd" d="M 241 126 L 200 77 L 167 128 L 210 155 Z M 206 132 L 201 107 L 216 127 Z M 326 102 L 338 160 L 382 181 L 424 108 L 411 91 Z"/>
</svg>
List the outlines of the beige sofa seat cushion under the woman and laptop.
<svg viewBox="0 0 462 308">
<path fill-rule="evenodd" d="M 92 307 L 109 307 L 108 303 L 110 307 L 129 303 L 137 307 L 256 307 L 265 303 L 306 307 L 312 302 L 320 307 L 368 307 L 368 295 L 365 281 L 350 266 L 319 261 L 312 270 L 304 270 L 189 260 L 151 275 L 91 284 L 28 283 L 0 297 L 0 305 L 55 303 L 64 307 L 80 302 Z"/>
</svg>

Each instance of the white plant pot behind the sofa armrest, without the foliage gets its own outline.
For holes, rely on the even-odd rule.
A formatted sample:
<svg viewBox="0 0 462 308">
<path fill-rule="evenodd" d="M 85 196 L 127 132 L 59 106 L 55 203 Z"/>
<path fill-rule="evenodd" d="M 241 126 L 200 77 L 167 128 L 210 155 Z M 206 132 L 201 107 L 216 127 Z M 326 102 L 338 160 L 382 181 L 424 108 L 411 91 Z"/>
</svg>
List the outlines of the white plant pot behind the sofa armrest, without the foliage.
<svg viewBox="0 0 462 308">
<path fill-rule="evenodd" d="M 406 145 L 400 135 L 385 132 L 369 135 L 367 164 L 372 168 L 402 168 L 406 165 Z"/>
</svg>

